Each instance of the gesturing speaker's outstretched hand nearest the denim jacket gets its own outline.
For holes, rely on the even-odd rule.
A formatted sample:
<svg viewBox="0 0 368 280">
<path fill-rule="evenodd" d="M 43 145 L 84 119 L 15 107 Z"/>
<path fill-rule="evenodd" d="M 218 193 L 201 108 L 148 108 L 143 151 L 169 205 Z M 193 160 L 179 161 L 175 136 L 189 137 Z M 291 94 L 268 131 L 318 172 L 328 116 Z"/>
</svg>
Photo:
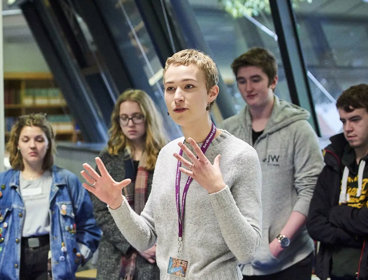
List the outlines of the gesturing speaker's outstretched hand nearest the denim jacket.
<svg viewBox="0 0 368 280">
<path fill-rule="evenodd" d="M 105 165 L 99 157 L 96 164 L 101 175 L 99 175 L 88 163 L 83 164 L 82 177 L 87 183 L 83 187 L 93 193 L 98 199 L 108 204 L 111 209 L 119 208 L 123 202 L 122 189 L 130 184 L 130 179 L 116 182 L 106 170 Z"/>
</svg>

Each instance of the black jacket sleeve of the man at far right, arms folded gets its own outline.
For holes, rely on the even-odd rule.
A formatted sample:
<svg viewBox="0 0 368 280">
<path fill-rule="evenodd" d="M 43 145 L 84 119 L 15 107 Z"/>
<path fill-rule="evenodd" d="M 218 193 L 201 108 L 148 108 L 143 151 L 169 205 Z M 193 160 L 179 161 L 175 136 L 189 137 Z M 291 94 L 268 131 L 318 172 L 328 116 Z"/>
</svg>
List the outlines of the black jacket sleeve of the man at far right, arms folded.
<svg viewBox="0 0 368 280">
<path fill-rule="evenodd" d="M 317 241 L 335 245 L 354 245 L 354 236 L 337 227 L 330 221 L 330 212 L 333 207 L 330 203 L 331 195 L 331 171 L 326 166 L 318 178 L 317 185 L 311 200 L 307 218 L 307 229 L 310 236 Z M 329 188 L 330 186 L 330 188 Z"/>
</svg>

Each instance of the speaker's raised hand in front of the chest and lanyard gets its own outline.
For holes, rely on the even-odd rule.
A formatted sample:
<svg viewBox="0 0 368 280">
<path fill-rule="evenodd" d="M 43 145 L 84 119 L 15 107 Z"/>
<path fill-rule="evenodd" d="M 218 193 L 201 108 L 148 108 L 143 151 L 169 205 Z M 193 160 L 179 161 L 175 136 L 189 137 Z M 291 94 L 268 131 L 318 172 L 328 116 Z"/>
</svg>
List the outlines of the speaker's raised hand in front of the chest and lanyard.
<svg viewBox="0 0 368 280">
<path fill-rule="evenodd" d="M 192 139 L 187 141 L 192 147 L 195 154 L 193 154 L 183 143 L 179 142 L 179 147 L 187 155 L 188 160 L 174 153 L 174 157 L 182 163 L 180 171 L 192 177 L 198 182 L 208 193 L 218 192 L 225 188 L 225 182 L 222 178 L 220 170 L 220 155 L 217 155 L 213 164 L 203 154 L 201 148 Z M 186 166 L 186 168 L 184 166 Z"/>
</svg>

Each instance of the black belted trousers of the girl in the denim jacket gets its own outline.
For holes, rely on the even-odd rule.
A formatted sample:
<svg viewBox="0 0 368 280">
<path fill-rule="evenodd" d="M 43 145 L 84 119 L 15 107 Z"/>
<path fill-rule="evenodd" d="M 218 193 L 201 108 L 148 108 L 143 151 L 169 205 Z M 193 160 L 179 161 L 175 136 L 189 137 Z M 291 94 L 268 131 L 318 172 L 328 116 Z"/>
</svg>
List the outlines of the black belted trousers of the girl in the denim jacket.
<svg viewBox="0 0 368 280">
<path fill-rule="evenodd" d="M 20 257 L 20 280 L 48 280 L 49 244 L 29 247 L 27 239 L 22 240 Z"/>
</svg>

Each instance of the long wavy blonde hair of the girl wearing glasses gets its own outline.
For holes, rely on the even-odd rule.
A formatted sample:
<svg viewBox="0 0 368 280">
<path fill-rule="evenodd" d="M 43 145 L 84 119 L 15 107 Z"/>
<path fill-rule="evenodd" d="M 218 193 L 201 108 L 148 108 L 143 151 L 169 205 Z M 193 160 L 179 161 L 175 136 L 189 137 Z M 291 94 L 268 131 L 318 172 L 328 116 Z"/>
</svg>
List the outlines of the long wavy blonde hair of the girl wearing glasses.
<svg viewBox="0 0 368 280">
<path fill-rule="evenodd" d="M 120 105 L 125 101 L 136 102 L 144 116 L 146 125 L 144 151 L 147 165 L 145 168 L 152 170 L 155 167 L 158 153 L 166 144 L 167 138 L 163 131 L 161 115 L 157 111 L 152 99 L 143 90 L 128 89 L 118 97 L 111 114 L 110 139 L 107 143 L 108 153 L 117 155 L 120 151 L 127 149 L 130 154 L 134 154 L 132 142 L 124 135 L 120 127 Z"/>
</svg>

